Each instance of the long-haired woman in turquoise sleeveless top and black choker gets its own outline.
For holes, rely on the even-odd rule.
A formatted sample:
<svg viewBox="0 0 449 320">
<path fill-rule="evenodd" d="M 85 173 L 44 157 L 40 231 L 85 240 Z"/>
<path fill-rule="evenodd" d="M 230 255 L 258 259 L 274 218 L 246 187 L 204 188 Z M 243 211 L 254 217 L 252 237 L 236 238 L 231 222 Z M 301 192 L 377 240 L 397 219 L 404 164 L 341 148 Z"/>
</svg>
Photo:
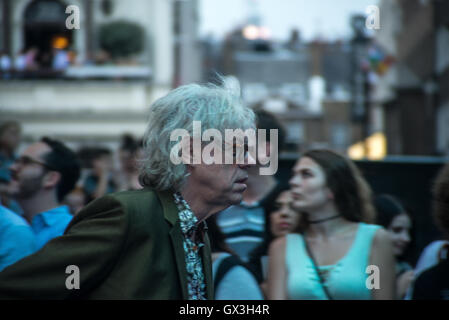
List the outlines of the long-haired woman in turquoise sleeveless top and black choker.
<svg viewBox="0 0 449 320">
<path fill-rule="evenodd" d="M 290 180 L 300 233 L 269 249 L 269 299 L 394 299 L 390 237 L 373 222 L 371 190 L 354 163 L 330 150 L 305 152 Z M 379 287 L 367 286 L 369 265 Z"/>
</svg>

